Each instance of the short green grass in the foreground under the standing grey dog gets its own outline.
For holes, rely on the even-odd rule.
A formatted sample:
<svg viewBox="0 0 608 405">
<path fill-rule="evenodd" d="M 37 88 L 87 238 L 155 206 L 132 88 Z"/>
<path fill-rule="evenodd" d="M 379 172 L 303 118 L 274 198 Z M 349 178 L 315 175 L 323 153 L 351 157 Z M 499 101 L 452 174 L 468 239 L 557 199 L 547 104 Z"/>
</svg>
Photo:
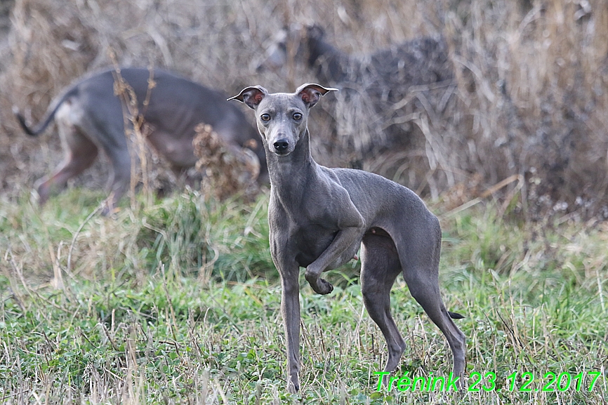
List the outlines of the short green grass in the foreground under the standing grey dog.
<svg viewBox="0 0 608 405">
<path fill-rule="evenodd" d="M 267 196 L 219 204 L 183 192 L 125 205 L 114 218 L 89 216 L 99 198 L 75 190 L 42 210 L 26 197 L 0 200 L 1 403 L 608 401 L 604 224 L 517 223 L 492 206 L 443 221 L 442 292 L 465 315 L 468 374 L 480 373 L 480 384 L 465 387 L 479 392 L 378 392 L 385 343 L 363 309 L 358 265 L 328 275 L 329 296 L 302 277 L 302 390 L 291 395 Z M 408 343 L 395 375 L 448 376 L 447 343 L 400 277 L 392 307 Z M 532 392 L 520 391 L 526 372 Z M 581 389 L 573 381 L 537 391 L 546 373 L 583 373 Z"/>
</svg>

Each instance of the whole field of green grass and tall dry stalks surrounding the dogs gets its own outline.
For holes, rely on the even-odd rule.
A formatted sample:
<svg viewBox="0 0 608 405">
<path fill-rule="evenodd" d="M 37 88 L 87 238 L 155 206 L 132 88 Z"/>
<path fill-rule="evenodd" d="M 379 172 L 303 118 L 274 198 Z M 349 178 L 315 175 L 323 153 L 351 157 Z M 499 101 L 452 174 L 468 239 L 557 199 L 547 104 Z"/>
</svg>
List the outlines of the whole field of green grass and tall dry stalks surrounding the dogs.
<svg viewBox="0 0 608 405">
<path fill-rule="evenodd" d="M 109 53 L 227 96 L 293 89 L 319 79 L 295 54 L 277 72 L 256 65 L 279 27 L 311 22 L 354 60 L 425 35 L 448 44 L 455 79 L 438 104 L 414 86 L 393 106 L 414 146 L 359 156 L 359 130 L 334 131 L 350 124 L 340 100 L 315 107 L 311 128 L 319 163 L 362 163 L 437 200 L 464 390 L 404 390 L 449 380 L 452 361 L 401 278 L 393 314 L 409 347 L 378 390 L 385 343 L 353 261 L 330 272 L 329 296 L 302 277 L 301 392 L 286 394 L 267 195 L 140 193 L 105 218 L 91 191 L 101 159 L 75 181 L 87 187 L 30 201 L 60 140 L 25 137 L 13 106 L 39 121 Z M 600 0 L 0 2 L 0 404 L 608 404 L 607 36 Z M 159 178 L 151 187 L 172 181 Z M 480 204 L 453 210 L 466 201 Z"/>
</svg>

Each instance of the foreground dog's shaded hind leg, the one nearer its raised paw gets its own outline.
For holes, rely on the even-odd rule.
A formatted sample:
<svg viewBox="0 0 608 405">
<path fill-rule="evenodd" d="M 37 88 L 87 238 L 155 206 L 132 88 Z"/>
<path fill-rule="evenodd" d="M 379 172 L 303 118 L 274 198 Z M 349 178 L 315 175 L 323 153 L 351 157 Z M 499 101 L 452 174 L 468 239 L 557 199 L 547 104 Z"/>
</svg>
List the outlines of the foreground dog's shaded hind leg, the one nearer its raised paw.
<svg viewBox="0 0 608 405">
<path fill-rule="evenodd" d="M 399 255 L 392 239 L 382 230 L 364 235 L 361 247 L 361 291 L 363 303 L 388 346 L 384 371 L 393 371 L 405 350 L 405 342 L 390 314 L 390 288 L 401 272 Z M 385 379 L 386 381 L 386 379 Z"/>
</svg>

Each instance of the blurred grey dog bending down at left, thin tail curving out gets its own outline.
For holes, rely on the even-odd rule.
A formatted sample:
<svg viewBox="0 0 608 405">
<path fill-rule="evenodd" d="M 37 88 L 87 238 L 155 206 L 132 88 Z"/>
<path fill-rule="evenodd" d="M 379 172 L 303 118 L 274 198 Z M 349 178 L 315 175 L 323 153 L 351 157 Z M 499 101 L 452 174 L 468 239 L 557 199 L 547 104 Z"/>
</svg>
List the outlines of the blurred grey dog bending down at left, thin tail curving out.
<svg viewBox="0 0 608 405">
<path fill-rule="evenodd" d="M 22 128 L 29 135 L 38 135 L 55 119 L 58 124 L 65 161 L 53 175 L 39 181 L 41 204 L 53 189 L 65 186 L 67 180 L 93 164 L 102 148 L 110 159 L 112 171 L 110 192 L 115 204 L 128 189 L 131 180 L 131 156 L 128 152 L 125 124 L 130 114 L 121 98 L 131 100 L 144 118 L 143 135 L 174 171 L 194 166 L 192 140 L 194 127 L 204 123 L 233 145 L 249 145 L 258 140 L 257 131 L 244 114 L 226 101 L 225 96 L 169 72 L 154 69 L 121 69 L 120 76 L 127 85 L 123 95 L 117 95 L 119 80 L 116 72 L 107 70 L 80 81 L 56 98 L 48 107 L 46 117 L 37 128 L 29 128 L 17 114 Z M 148 100 L 147 105 L 143 105 Z M 265 155 L 260 142 L 254 152 L 260 159 L 260 178 L 265 178 Z"/>
</svg>

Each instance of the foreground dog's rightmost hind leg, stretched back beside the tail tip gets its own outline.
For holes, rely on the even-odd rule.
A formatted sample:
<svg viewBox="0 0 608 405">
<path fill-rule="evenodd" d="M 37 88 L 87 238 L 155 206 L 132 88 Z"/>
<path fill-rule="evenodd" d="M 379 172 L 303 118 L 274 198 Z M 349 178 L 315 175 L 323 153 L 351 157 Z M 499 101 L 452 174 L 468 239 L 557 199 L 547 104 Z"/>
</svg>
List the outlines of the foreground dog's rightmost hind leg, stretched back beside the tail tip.
<svg viewBox="0 0 608 405">
<path fill-rule="evenodd" d="M 411 296 L 423 307 L 428 317 L 440 328 L 454 355 L 454 376 L 463 377 L 465 366 L 465 335 L 450 317 L 439 288 L 441 230 L 439 224 L 428 232 L 399 246 L 403 277 Z M 454 317 L 458 317 L 454 314 Z"/>
</svg>

